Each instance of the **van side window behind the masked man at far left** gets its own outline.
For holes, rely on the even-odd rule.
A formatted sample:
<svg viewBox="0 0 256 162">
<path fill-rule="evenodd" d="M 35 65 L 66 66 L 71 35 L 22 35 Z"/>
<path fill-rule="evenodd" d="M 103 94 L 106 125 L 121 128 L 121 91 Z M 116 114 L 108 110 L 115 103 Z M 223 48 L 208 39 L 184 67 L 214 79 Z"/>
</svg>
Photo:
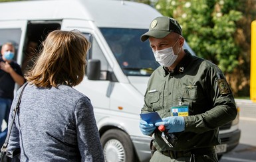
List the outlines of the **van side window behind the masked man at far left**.
<svg viewBox="0 0 256 162">
<path fill-rule="evenodd" d="M 14 59 L 17 61 L 17 53 L 21 40 L 21 28 L 1 28 L 0 29 L 0 49 L 6 42 L 11 42 L 15 47 Z"/>
</svg>

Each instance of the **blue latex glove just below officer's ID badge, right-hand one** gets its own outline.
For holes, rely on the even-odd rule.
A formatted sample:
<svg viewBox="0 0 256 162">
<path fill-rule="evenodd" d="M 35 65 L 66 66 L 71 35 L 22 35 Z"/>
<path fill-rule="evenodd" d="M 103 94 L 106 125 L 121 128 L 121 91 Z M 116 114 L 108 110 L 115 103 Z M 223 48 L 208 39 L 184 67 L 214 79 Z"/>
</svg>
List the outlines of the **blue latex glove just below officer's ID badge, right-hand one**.
<svg viewBox="0 0 256 162">
<path fill-rule="evenodd" d="M 185 121 L 182 116 L 170 116 L 162 118 L 163 122 L 157 122 L 155 126 L 164 125 L 168 133 L 182 132 L 185 130 Z"/>
</svg>

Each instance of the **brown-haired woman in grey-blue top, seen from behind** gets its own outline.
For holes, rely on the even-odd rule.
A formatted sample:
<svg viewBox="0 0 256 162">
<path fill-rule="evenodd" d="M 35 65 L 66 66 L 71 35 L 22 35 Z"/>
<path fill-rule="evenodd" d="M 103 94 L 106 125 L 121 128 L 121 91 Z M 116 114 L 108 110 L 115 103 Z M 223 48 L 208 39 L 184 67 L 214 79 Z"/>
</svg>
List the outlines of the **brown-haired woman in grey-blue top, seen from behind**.
<svg viewBox="0 0 256 162">
<path fill-rule="evenodd" d="M 20 148 L 21 161 L 104 161 L 90 99 L 72 88 L 84 78 L 89 48 L 90 42 L 76 30 L 49 33 L 25 73 L 28 84 L 11 130 L 10 157 Z M 9 121 L 19 93 L 21 89 Z"/>
</svg>

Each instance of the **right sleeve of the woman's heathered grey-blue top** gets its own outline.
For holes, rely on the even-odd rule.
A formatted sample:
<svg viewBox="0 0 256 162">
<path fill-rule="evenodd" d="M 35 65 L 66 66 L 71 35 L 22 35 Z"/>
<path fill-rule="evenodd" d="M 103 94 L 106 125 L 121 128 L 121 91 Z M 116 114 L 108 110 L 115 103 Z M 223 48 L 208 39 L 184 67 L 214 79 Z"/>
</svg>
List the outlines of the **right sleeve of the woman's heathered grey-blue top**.
<svg viewBox="0 0 256 162">
<path fill-rule="evenodd" d="M 78 101 L 74 115 L 81 161 L 103 162 L 102 146 L 89 99 L 84 97 Z"/>
</svg>

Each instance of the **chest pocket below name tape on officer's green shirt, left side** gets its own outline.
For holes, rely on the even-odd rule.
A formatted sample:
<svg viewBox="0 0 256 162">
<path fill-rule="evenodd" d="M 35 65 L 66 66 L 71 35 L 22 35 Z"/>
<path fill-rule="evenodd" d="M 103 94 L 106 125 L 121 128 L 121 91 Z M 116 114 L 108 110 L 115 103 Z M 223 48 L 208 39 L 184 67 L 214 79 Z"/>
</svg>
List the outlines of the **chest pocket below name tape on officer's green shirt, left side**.
<svg viewBox="0 0 256 162">
<path fill-rule="evenodd" d="M 157 111 L 162 107 L 162 105 L 160 104 L 160 92 L 154 91 L 148 93 L 146 99 L 147 102 L 150 103 L 150 106 L 154 111 Z"/>
</svg>

